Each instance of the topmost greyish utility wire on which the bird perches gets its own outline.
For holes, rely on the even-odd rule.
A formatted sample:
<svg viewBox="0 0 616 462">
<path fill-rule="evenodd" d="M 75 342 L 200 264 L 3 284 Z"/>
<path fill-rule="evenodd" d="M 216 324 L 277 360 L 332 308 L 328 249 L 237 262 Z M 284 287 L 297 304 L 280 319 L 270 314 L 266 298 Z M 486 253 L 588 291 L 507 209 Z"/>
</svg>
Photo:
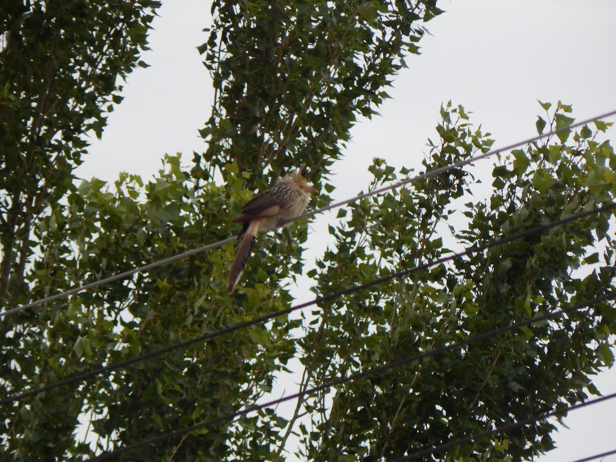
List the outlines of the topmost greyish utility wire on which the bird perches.
<svg viewBox="0 0 616 462">
<path fill-rule="evenodd" d="M 509 151 L 509 150 L 514 149 L 514 148 L 517 148 L 517 147 L 520 147 L 520 146 L 532 143 L 534 141 L 540 140 L 542 138 L 553 136 L 553 135 L 556 135 L 556 134 L 558 134 L 560 132 L 563 132 L 563 131 L 566 131 L 566 130 L 570 130 L 570 129 L 573 129 L 573 128 L 577 128 L 577 127 L 589 124 L 589 123 L 591 123 L 593 121 L 601 120 L 603 118 L 607 118 L 607 117 L 612 116 L 612 115 L 616 115 L 616 110 L 607 112 L 605 114 L 602 114 L 602 115 L 599 115 L 599 116 L 596 116 L 596 117 L 593 117 L 593 118 L 590 118 L 590 119 L 583 120 L 581 122 L 577 122 L 577 123 L 571 124 L 571 125 L 566 126 L 566 127 L 555 129 L 555 130 L 553 130 L 551 132 L 544 133 L 544 134 L 541 134 L 541 135 L 529 138 L 529 139 L 521 141 L 521 142 L 510 144 L 510 145 L 505 146 L 505 147 L 500 148 L 500 149 L 492 150 L 492 151 L 489 151 L 489 152 L 486 152 L 486 153 L 482 153 L 482 154 L 477 155 L 477 156 L 473 156 L 472 158 L 469 158 L 467 160 L 459 161 L 459 162 L 456 162 L 456 163 L 453 163 L 453 164 L 448 164 L 448 165 L 445 165 L 445 166 L 433 169 L 433 170 L 431 170 L 429 172 L 426 172 L 426 173 L 423 173 L 423 174 L 419 174 L 419 175 L 416 175 L 414 177 L 407 178 L 407 179 L 399 181 L 397 183 L 393 183 L 393 184 L 390 184 L 390 185 L 387 185 L 387 186 L 375 189 L 373 191 L 370 191 L 370 192 L 367 192 L 367 193 L 364 193 L 364 194 L 357 195 L 357 196 L 352 197 L 352 198 L 347 199 L 347 200 L 339 201 L 339 202 L 330 204 L 328 206 L 312 210 L 310 212 L 304 213 L 304 214 L 299 215 L 297 217 L 290 218 L 290 219 L 288 219 L 286 221 L 283 221 L 282 225 L 285 225 L 285 224 L 288 224 L 290 222 L 293 222 L 293 221 L 296 221 L 296 220 L 299 220 L 299 219 L 303 219 L 303 218 L 306 218 L 306 217 L 314 216 L 316 214 L 323 213 L 323 212 L 331 210 L 333 208 L 338 208 L 338 207 L 340 207 L 342 205 L 347 205 L 347 204 L 349 204 L 351 202 L 362 200 L 364 198 L 367 198 L 367 197 L 370 197 L 370 196 L 373 196 L 373 195 L 376 195 L 376 194 L 379 194 L 379 193 L 382 193 L 382 192 L 386 192 L 386 191 L 394 189 L 394 188 L 398 188 L 400 186 L 409 184 L 411 182 L 416 182 L 416 181 L 423 180 L 423 179 L 426 179 L 426 178 L 431 178 L 431 177 L 440 175 L 442 173 L 445 173 L 447 171 L 450 171 L 450 170 L 453 170 L 453 169 L 458 169 L 458 168 L 461 168 L 461 167 L 466 166 L 468 164 L 472 164 L 475 161 L 482 160 L 482 159 L 488 158 L 490 156 L 496 155 L 496 154 L 498 154 L 500 152 Z M 235 240 L 235 237 L 227 238 L 225 240 L 217 241 L 217 242 L 214 242 L 212 244 L 209 244 L 209 245 L 206 245 L 206 246 L 203 246 L 203 247 L 192 249 L 190 251 L 187 251 L 187 252 L 184 252 L 184 253 L 180 253 L 180 254 L 177 254 L 177 255 L 172 256 L 172 257 L 168 257 L 168 258 L 165 258 L 165 259 L 162 259 L 162 260 L 159 260 L 159 261 L 156 261 L 156 262 L 152 262 L 150 264 L 147 264 L 147 265 L 144 265 L 144 266 L 140 266 L 140 267 L 137 267 L 135 269 L 132 269 L 132 270 L 120 273 L 120 274 L 116 274 L 116 275 L 110 276 L 108 278 L 104 278 L 104 279 L 101 279 L 101 280 L 98 280 L 98 281 L 95 281 L 95 282 L 92 282 L 92 283 L 89 283 L 89 284 L 86 284 L 86 285 L 83 285 L 83 286 L 77 286 L 77 287 L 72 288 L 70 290 L 67 290 L 65 292 L 62 292 L 62 293 L 59 293 L 59 294 L 54 294 L 52 296 L 40 299 L 38 301 L 30 302 L 28 304 L 25 304 L 25 305 L 22 305 L 22 306 L 18 306 L 16 308 L 12 308 L 12 309 L 6 310 L 4 312 L 0 312 L 0 318 L 4 317 L 4 316 L 7 316 L 7 315 L 10 315 L 10 314 L 14 314 L 14 313 L 26 310 L 26 309 L 30 309 L 30 308 L 33 308 L 33 307 L 36 307 L 36 306 L 40 306 L 40 305 L 42 305 L 44 303 L 47 303 L 47 302 L 52 302 L 52 301 L 56 301 L 56 300 L 59 300 L 59 299 L 67 298 L 68 296 L 76 294 L 76 293 L 79 293 L 81 291 L 93 289 L 93 288 L 98 287 L 98 286 L 102 286 L 102 285 L 105 285 L 105 284 L 108 284 L 108 283 L 111 283 L 111 282 L 115 282 L 115 281 L 127 278 L 127 277 L 129 277 L 129 276 L 131 276 L 133 274 L 136 274 L 136 273 L 139 273 L 139 272 L 144 272 L 144 271 L 156 268 L 158 266 L 166 265 L 166 264 L 169 264 L 171 262 L 177 261 L 179 259 L 183 259 L 183 258 L 188 257 L 188 256 L 199 254 L 199 253 L 201 253 L 201 252 L 203 252 L 205 250 L 208 250 L 208 249 L 218 248 L 218 247 L 220 247 L 220 246 L 222 246 L 222 245 L 224 245 L 226 243 L 229 243 L 229 242 L 231 242 L 233 240 Z"/>
</svg>

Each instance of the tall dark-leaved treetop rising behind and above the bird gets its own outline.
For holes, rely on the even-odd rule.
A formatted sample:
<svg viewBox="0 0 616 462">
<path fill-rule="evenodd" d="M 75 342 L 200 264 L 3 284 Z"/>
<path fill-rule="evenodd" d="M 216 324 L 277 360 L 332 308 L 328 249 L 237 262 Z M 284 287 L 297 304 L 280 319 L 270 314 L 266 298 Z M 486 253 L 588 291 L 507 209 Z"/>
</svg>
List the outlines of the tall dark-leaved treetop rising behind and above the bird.
<svg viewBox="0 0 616 462">
<path fill-rule="evenodd" d="M 214 28 L 200 47 L 214 80 L 202 160 L 277 176 L 299 161 L 318 180 L 360 116 L 388 97 L 384 87 L 418 53 L 420 20 L 434 1 L 213 2 Z M 229 172 L 221 169 L 228 180 Z"/>
</svg>

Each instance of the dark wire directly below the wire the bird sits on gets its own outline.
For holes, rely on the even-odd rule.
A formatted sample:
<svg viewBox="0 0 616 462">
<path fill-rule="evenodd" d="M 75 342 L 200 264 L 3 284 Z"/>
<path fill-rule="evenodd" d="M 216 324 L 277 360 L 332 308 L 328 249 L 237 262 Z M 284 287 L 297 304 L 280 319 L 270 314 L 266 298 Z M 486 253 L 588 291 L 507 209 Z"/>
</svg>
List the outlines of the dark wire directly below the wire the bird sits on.
<svg viewBox="0 0 616 462">
<path fill-rule="evenodd" d="M 260 316 L 260 317 L 257 317 L 257 318 L 253 318 L 251 320 L 244 321 L 244 322 L 241 322 L 241 323 L 238 323 L 238 324 L 226 327 L 224 329 L 221 329 L 221 330 L 218 330 L 218 331 L 215 331 L 215 332 L 204 334 L 204 335 L 202 335 L 200 337 L 196 337 L 196 338 L 193 338 L 193 339 L 188 339 L 188 340 L 185 340 L 183 342 L 179 342 L 179 343 L 176 343 L 176 344 L 173 344 L 173 345 L 169 345 L 167 347 L 164 347 L 164 348 L 161 348 L 161 349 L 158 349 L 158 350 L 155 350 L 155 351 L 151 351 L 149 353 L 146 353 L 146 354 L 143 354 L 143 355 L 131 358 L 131 359 L 127 359 L 127 360 L 124 360 L 124 361 L 121 361 L 121 362 L 118 362 L 118 363 L 113 363 L 113 364 L 107 365 L 105 367 L 102 367 L 102 368 L 94 370 L 94 371 L 86 372 L 86 373 L 83 373 L 81 375 L 76 375 L 76 376 L 73 376 L 73 377 L 70 377 L 70 378 L 67 378 L 67 379 L 63 379 L 63 380 L 60 380 L 58 382 L 55 382 L 55 383 L 52 383 L 52 384 L 40 387 L 38 389 L 34 389 L 34 390 L 31 390 L 31 391 L 23 392 L 21 394 L 17 394 L 17 395 L 6 397 L 6 398 L 0 400 L 0 405 L 9 404 L 9 403 L 12 403 L 12 402 L 15 402 L 15 401 L 18 401 L 18 400 L 22 400 L 22 399 L 24 399 L 26 397 L 37 395 L 37 394 L 42 393 L 44 391 L 49 391 L 49 390 L 52 390 L 52 389 L 55 389 L 57 387 L 60 387 L 60 386 L 63 386 L 63 385 L 67 385 L 67 384 L 70 384 L 70 383 L 74 383 L 74 382 L 77 382 L 77 381 L 84 381 L 84 380 L 90 379 L 90 378 L 92 378 L 94 376 L 100 375 L 102 373 L 106 373 L 106 372 L 110 372 L 110 371 L 113 371 L 113 370 L 116 370 L 116 369 L 124 368 L 124 367 L 126 367 L 128 365 L 131 365 L 132 363 L 136 363 L 136 362 L 139 362 L 139 361 L 142 361 L 142 360 L 150 359 L 152 357 L 155 357 L 155 356 L 158 356 L 158 355 L 170 352 L 170 351 L 174 351 L 174 350 L 179 349 L 179 348 L 190 346 L 190 345 L 195 344 L 197 342 L 204 342 L 204 341 L 216 338 L 218 336 L 221 336 L 223 334 L 227 334 L 227 333 L 230 333 L 230 332 L 233 332 L 233 331 L 236 331 L 236 330 L 240 330 L 240 329 L 243 329 L 243 328 L 255 325 L 255 324 L 264 323 L 264 322 L 269 321 L 270 319 L 273 319 L 273 318 L 276 318 L 276 317 L 279 317 L 279 316 L 283 316 L 283 315 L 286 315 L 286 314 L 290 314 L 290 313 L 292 313 L 292 312 L 294 312 L 296 310 L 301 310 L 303 308 L 306 308 L 306 307 L 309 307 L 309 306 L 312 306 L 312 305 L 316 305 L 316 304 L 319 304 L 319 303 L 322 303 L 322 302 L 325 302 L 325 301 L 329 301 L 331 299 L 338 298 L 338 297 L 340 297 L 342 295 L 350 294 L 350 293 L 362 290 L 364 288 L 372 287 L 372 286 L 381 284 L 383 282 L 387 282 L 387 281 L 395 279 L 395 278 L 407 276 L 407 275 L 413 274 L 415 272 L 418 272 L 418 271 L 421 271 L 421 270 L 424 270 L 424 269 L 428 269 L 430 267 L 433 267 L 433 266 L 436 266 L 436 265 L 439 265 L 439 264 L 442 264 L 442 263 L 445 263 L 445 262 L 448 262 L 448 261 L 452 261 L 453 259 L 458 258 L 458 257 L 468 256 L 469 254 L 472 254 L 472 253 L 479 253 L 481 251 L 484 251 L 485 249 L 492 248 L 492 247 L 495 247 L 495 246 L 507 243 L 509 241 L 517 240 L 517 239 L 520 239 L 522 237 L 526 237 L 526 236 L 529 236 L 529 235 L 540 233 L 540 232 L 543 232 L 545 230 L 548 230 L 548 229 L 551 229 L 551 228 L 554 228 L 554 227 L 557 227 L 557 226 L 560 226 L 560 225 L 564 225 L 564 224 L 567 224 L 567 223 L 572 222 L 572 221 L 576 221 L 576 220 L 582 219 L 584 217 L 588 217 L 588 216 L 591 216 L 591 215 L 594 215 L 594 214 L 601 213 L 603 211 L 607 211 L 607 210 L 612 209 L 614 207 L 616 207 L 616 203 L 609 203 L 609 204 L 606 204 L 606 205 L 601 206 L 601 207 L 596 208 L 596 209 L 592 209 L 592 210 L 589 210 L 589 211 L 586 211 L 586 212 L 583 212 L 583 213 L 580 213 L 580 214 L 577 214 L 577 215 L 572 215 L 572 216 L 566 217 L 566 218 L 561 219 L 559 221 L 550 222 L 550 223 L 545 224 L 545 225 L 541 225 L 541 226 L 538 226 L 538 227 L 535 227 L 535 228 L 532 228 L 532 229 L 529 229 L 529 230 L 522 231 L 520 233 L 516 233 L 516 234 L 511 235 L 509 237 L 504 237 L 504 238 L 501 238 L 499 240 L 492 241 L 492 242 L 489 242 L 489 243 L 486 243 L 486 244 L 482 244 L 482 245 L 472 246 L 471 248 L 466 249 L 465 251 L 462 251 L 462 252 L 459 252 L 459 253 L 453 253 L 453 254 L 451 254 L 449 256 L 441 257 L 439 259 L 436 259 L 436 260 L 433 260 L 433 261 L 430 261 L 430 262 L 426 262 L 424 264 L 421 264 L 421 265 L 418 265 L 418 266 L 415 266 L 415 267 L 412 267 L 412 268 L 409 268 L 409 269 L 406 269 L 406 270 L 395 272 L 395 273 L 389 274 L 389 275 L 384 276 L 384 277 L 376 278 L 376 279 L 373 279 L 371 281 L 368 281 L 368 282 L 365 282 L 365 283 L 362 283 L 362 284 L 358 284 L 358 285 L 355 285 L 355 286 L 347 287 L 346 289 L 342 289 L 342 290 L 336 291 L 336 292 L 328 294 L 328 295 L 317 297 L 314 300 L 310 300 L 310 301 L 304 302 L 304 303 L 299 304 L 297 306 L 289 307 L 289 308 L 286 308 L 286 309 L 283 309 L 283 310 L 279 310 L 279 311 L 274 312 L 274 313 L 270 313 L 270 314 L 266 314 L 266 315 L 263 315 L 263 316 Z"/>
</svg>

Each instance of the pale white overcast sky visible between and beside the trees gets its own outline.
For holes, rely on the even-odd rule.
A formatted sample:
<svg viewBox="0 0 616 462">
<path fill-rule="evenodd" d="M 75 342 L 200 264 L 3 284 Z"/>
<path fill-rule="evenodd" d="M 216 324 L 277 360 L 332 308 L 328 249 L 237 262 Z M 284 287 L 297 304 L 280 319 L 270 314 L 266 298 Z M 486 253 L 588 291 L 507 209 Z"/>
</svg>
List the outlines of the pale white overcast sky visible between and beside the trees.
<svg viewBox="0 0 616 462">
<path fill-rule="evenodd" d="M 148 179 L 164 153 L 182 152 L 188 163 L 193 150 L 206 149 L 197 130 L 209 118 L 212 87 L 196 47 L 207 38 L 202 29 L 210 25 L 209 2 L 163 3 L 150 36 L 152 51 L 144 55 L 151 67 L 128 76 L 125 99 L 111 113 L 103 139 L 92 143 L 77 171 L 80 177 L 113 182 L 127 171 Z M 473 112 L 471 122 L 492 132 L 495 147 L 536 134 L 542 111 L 537 99 L 572 104 L 577 120 L 616 109 L 613 0 L 440 0 L 438 5 L 446 12 L 428 23 L 432 36 L 421 41 L 423 54 L 408 57 L 409 68 L 387 89 L 393 99 L 380 108 L 382 116 L 352 130 L 346 158 L 334 165 L 334 199 L 367 188 L 374 156 L 397 167 L 418 167 L 428 152 L 426 139 L 436 133 L 440 104 L 450 99 Z M 322 216 L 312 229 L 332 219 Z M 595 383 L 604 394 L 616 392 L 616 368 Z M 614 401 L 573 411 L 565 419 L 569 429 L 554 435 L 559 448 L 538 460 L 566 462 L 616 449 L 615 414 Z M 604 460 L 616 461 L 616 455 Z"/>
</svg>

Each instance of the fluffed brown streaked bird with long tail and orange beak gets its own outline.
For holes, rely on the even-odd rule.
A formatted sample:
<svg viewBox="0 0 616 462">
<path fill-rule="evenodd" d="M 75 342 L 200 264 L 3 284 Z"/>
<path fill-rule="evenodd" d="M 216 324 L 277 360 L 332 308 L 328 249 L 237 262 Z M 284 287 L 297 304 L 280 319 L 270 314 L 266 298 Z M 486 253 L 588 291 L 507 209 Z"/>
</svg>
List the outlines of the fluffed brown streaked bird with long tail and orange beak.
<svg viewBox="0 0 616 462">
<path fill-rule="evenodd" d="M 227 280 L 229 293 L 240 280 L 256 234 L 289 225 L 290 222 L 286 221 L 301 215 L 308 205 L 310 193 L 317 192 L 302 178 L 303 169 L 302 166 L 293 174 L 278 179 L 274 187 L 253 197 L 242 208 L 243 213 L 232 219 L 233 223 L 243 223 L 244 227 L 238 236 L 241 242 Z"/>
</svg>

